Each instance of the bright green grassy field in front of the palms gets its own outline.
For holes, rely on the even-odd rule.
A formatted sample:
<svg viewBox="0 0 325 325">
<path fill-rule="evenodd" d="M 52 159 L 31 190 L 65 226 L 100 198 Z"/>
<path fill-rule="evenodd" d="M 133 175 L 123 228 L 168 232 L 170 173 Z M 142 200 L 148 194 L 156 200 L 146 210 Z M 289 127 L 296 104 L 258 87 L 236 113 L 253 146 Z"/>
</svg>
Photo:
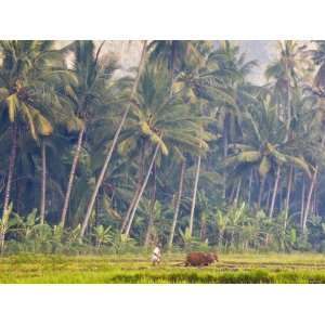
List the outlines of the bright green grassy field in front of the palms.
<svg viewBox="0 0 325 325">
<path fill-rule="evenodd" d="M 208 268 L 178 265 L 184 255 L 164 256 L 152 266 L 148 256 L 22 255 L 0 258 L 0 283 L 325 283 L 325 256 L 315 253 L 229 253 Z"/>
</svg>

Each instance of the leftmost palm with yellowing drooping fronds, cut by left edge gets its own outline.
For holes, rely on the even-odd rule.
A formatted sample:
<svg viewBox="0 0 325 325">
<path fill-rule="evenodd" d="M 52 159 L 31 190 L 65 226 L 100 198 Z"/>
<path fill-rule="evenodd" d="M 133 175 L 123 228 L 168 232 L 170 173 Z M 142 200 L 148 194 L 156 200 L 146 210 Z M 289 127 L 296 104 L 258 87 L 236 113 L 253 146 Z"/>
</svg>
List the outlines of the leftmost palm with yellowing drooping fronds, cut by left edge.
<svg viewBox="0 0 325 325">
<path fill-rule="evenodd" d="M 48 105 L 55 96 L 53 83 L 64 76 L 62 54 L 53 50 L 52 41 L 1 41 L 3 56 L 0 72 L 1 105 L 8 110 L 12 129 L 12 148 L 3 211 L 9 207 L 17 151 L 17 129 L 28 127 L 32 139 L 52 133 Z M 54 102 L 55 103 L 55 102 Z M 55 106 L 57 107 L 57 106 Z"/>
</svg>

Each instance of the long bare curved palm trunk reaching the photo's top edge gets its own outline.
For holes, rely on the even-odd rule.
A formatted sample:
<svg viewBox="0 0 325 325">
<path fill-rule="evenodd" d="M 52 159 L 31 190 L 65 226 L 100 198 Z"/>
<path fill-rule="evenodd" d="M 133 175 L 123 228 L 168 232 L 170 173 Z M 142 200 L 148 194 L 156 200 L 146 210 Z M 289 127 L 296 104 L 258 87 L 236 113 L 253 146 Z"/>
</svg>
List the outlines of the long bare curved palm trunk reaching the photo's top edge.
<svg viewBox="0 0 325 325">
<path fill-rule="evenodd" d="M 107 167 L 108 167 L 108 164 L 110 161 L 110 158 L 112 158 L 112 155 L 113 155 L 113 152 L 116 147 L 116 144 L 117 144 L 117 140 L 118 140 L 118 136 L 119 136 L 119 133 L 125 125 L 125 121 L 127 119 L 127 116 L 129 114 L 129 110 L 131 108 L 131 102 L 134 98 L 134 94 L 136 92 L 136 89 L 138 89 L 138 84 L 139 84 L 139 80 L 140 80 L 140 76 L 141 76 L 141 72 L 142 72 L 142 68 L 143 68 L 143 63 L 144 63 L 144 57 L 145 57 L 145 52 L 146 52 L 146 42 L 147 41 L 144 41 L 143 42 L 143 49 L 142 49 L 142 55 L 141 55 L 141 60 L 140 60 L 140 64 L 139 64 L 139 69 L 138 69 L 138 75 L 136 75 L 136 78 L 134 80 L 134 84 L 133 84 L 133 88 L 132 88 L 132 91 L 131 91 L 131 95 L 130 95 L 130 101 L 129 101 L 129 104 L 122 115 L 122 118 L 119 122 L 119 126 L 115 132 L 115 135 L 114 135 L 114 139 L 113 139 L 113 142 L 112 142 L 112 146 L 109 148 L 109 152 L 105 158 L 105 161 L 104 161 L 104 165 L 102 167 L 102 170 L 101 170 L 101 173 L 100 173 L 100 177 L 96 181 L 96 184 L 95 184 L 95 187 L 94 187 L 94 191 L 92 193 L 92 196 L 90 198 L 90 202 L 89 202 L 89 205 L 88 205 L 88 208 L 87 208 L 87 212 L 86 212 L 86 216 L 84 216 L 84 220 L 83 220 L 83 223 L 82 223 L 82 226 L 81 226 L 81 232 L 80 232 L 80 237 L 82 238 L 84 236 L 84 232 L 86 232 L 86 229 L 88 226 L 88 222 L 89 222 L 89 219 L 90 219 L 90 216 L 91 216 L 91 212 L 92 212 L 92 209 L 93 209 L 93 206 L 94 206 L 94 203 L 95 203 L 95 199 L 96 199 L 96 196 L 98 196 L 98 193 L 99 193 L 99 190 L 104 181 L 104 178 L 105 178 L 105 173 L 106 173 L 106 170 L 107 170 Z"/>
</svg>

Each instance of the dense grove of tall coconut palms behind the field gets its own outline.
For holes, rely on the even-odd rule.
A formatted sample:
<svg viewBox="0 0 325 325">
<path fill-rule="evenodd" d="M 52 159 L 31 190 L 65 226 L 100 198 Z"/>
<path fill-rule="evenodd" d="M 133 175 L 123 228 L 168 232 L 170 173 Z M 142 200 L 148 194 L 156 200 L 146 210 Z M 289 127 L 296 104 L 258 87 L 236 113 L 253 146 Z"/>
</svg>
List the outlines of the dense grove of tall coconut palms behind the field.
<svg viewBox="0 0 325 325">
<path fill-rule="evenodd" d="M 2 252 L 325 250 L 325 42 L 0 41 Z M 68 57 L 68 60 L 67 60 Z M 324 217 L 323 217 L 324 216 Z"/>
</svg>

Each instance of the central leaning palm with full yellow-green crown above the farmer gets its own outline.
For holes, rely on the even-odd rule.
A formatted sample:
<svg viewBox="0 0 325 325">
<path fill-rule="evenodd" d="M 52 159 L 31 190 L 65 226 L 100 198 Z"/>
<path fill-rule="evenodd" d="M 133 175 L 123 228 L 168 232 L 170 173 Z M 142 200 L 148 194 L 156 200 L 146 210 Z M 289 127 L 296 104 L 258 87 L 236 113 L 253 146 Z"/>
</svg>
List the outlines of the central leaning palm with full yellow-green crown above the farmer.
<svg viewBox="0 0 325 325">
<path fill-rule="evenodd" d="M 134 204 L 126 221 L 127 236 L 155 159 L 159 157 L 159 148 L 162 155 L 177 148 L 202 154 L 207 148 L 205 140 L 208 135 L 204 133 L 200 136 L 200 122 L 202 118 L 192 114 L 191 106 L 183 102 L 180 94 L 169 96 L 168 72 L 156 65 L 148 65 L 140 79 L 134 109 L 126 128 L 126 133 L 131 134 L 131 138 L 120 144 L 131 147 L 139 139 L 144 139 L 146 151 L 153 152 L 145 179 L 139 193 L 134 193 Z"/>
</svg>

